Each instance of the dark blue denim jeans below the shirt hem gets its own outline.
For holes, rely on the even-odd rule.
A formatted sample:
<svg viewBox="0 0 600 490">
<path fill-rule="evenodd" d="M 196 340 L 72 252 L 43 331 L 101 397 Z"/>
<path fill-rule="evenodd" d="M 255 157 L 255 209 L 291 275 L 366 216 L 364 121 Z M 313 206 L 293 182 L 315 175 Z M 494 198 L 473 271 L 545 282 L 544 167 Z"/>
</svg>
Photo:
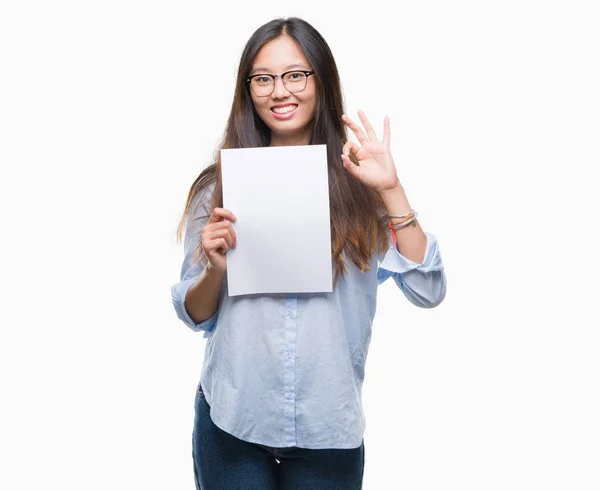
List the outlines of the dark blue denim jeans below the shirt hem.
<svg viewBox="0 0 600 490">
<path fill-rule="evenodd" d="M 360 490 L 363 443 L 355 449 L 274 448 L 217 427 L 198 385 L 192 434 L 197 490 Z"/>
</svg>

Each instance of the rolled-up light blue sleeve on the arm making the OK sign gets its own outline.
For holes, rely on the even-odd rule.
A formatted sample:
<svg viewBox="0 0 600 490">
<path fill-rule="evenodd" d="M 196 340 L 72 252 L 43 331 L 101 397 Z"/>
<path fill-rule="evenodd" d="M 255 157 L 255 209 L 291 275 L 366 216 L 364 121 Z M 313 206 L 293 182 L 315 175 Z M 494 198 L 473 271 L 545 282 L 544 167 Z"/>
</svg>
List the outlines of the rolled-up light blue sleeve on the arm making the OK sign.
<svg viewBox="0 0 600 490">
<path fill-rule="evenodd" d="M 425 257 L 421 264 L 417 264 L 398 251 L 389 233 L 389 247 L 377 269 L 377 284 L 393 277 L 412 304 L 433 308 L 446 296 L 446 273 L 436 237 L 428 232 L 425 236 Z"/>
</svg>

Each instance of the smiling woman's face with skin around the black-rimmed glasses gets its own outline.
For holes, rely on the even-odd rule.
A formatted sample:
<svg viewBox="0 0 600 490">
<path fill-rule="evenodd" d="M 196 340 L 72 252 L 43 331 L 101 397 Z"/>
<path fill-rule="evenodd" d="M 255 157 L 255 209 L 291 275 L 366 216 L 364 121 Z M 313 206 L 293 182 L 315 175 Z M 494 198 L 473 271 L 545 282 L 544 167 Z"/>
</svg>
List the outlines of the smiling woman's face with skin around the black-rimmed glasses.
<svg viewBox="0 0 600 490">
<path fill-rule="evenodd" d="M 312 71 L 312 66 L 296 41 L 282 36 L 259 50 L 248 76 L 258 73 L 281 75 L 294 69 Z M 308 145 L 317 105 L 315 76 L 308 77 L 302 92 L 288 92 L 281 77 L 275 79 L 275 88 L 269 96 L 258 97 L 250 90 L 256 112 L 271 129 L 271 146 Z M 287 111 L 289 106 L 293 107 L 291 112 L 284 115 L 275 112 Z"/>
</svg>

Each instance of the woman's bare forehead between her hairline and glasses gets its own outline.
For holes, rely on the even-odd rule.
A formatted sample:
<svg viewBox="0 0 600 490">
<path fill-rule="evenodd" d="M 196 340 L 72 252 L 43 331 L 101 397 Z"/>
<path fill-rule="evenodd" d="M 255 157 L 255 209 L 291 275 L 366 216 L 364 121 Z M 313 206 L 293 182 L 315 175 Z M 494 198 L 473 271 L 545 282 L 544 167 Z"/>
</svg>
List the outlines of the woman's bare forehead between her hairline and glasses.
<svg viewBox="0 0 600 490">
<path fill-rule="evenodd" d="M 266 43 L 252 63 L 252 72 L 280 73 L 294 68 L 311 69 L 298 43 L 287 36 Z"/>
</svg>

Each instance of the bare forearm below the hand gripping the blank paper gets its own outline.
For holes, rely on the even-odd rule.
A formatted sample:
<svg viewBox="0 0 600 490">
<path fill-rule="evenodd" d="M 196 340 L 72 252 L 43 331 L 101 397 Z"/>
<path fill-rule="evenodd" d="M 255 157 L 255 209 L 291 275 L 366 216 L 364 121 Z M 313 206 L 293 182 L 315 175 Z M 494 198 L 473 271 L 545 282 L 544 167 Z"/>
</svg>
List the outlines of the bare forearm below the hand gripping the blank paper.
<svg viewBox="0 0 600 490">
<path fill-rule="evenodd" d="M 185 295 L 188 315 L 196 323 L 209 319 L 219 307 L 219 297 L 225 271 L 205 267 Z"/>
</svg>

